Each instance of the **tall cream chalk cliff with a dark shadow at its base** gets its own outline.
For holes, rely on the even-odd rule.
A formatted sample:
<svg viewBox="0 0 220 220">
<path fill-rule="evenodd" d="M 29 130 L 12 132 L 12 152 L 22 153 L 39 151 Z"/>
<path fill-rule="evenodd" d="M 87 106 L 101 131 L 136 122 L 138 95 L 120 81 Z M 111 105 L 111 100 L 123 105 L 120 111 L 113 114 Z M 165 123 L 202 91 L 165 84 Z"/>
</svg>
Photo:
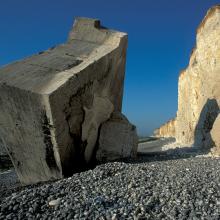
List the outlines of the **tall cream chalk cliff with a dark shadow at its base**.
<svg viewBox="0 0 220 220">
<path fill-rule="evenodd" d="M 197 30 L 189 66 L 179 76 L 176 139 L 213 145 L 210 130 L 220 102 L 220 6 L 211 8 Z"/>
</svg>

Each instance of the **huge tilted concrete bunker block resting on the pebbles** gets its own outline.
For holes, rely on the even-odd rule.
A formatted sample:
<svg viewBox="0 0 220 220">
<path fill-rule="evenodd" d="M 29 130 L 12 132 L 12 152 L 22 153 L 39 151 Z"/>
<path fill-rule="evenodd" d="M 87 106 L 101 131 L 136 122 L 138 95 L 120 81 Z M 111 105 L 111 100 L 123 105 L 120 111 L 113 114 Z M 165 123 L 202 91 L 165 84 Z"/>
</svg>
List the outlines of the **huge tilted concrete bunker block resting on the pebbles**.
<svg viewBox="0 0 220 220">
<path fill-rule="evenodd" d="M 0 136 L 24 184 L 89 163 L 100 125 L 121 111 L 127 35 L 94 19 L 68 42 L 0 69 Z"/>
</svg>

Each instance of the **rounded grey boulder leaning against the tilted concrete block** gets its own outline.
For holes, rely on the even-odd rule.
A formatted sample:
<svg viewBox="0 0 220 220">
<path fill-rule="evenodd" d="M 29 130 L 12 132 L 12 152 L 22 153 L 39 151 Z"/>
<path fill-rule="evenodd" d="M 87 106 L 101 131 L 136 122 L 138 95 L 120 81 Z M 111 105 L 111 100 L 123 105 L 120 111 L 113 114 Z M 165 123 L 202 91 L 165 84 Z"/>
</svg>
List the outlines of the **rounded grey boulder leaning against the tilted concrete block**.
<svg viewBox="0 0 220 220">
<path fill-rule="evenodd" d="M 96 159 L 104 162 L 135 157 L 137 147 L 136 127 L 122 113 L 113 112 L 101 126 Z"/>
</svg>

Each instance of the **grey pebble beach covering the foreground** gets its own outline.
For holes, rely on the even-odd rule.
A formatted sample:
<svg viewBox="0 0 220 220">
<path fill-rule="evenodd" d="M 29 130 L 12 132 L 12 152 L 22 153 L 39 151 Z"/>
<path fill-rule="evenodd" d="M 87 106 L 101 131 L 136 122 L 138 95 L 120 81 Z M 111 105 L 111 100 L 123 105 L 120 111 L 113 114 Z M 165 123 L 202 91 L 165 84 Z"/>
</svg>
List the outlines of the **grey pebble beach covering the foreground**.
<svg viewBox="0 0 220 220">
<path fill-rule="evenodd" d="M 139 156 L 5 197 L 0 219 L 220 219 L 220 159 Z"/>
</svg>

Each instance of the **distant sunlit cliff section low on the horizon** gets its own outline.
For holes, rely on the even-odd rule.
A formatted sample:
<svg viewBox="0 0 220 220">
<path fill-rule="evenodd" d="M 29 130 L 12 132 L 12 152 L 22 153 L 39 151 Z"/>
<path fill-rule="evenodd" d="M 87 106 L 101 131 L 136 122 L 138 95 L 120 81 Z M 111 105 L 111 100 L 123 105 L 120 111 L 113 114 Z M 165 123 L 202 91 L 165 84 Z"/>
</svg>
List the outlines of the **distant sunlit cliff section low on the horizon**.
<svg viewBox="0 0 220 220">
<path fill-rule="evenodd" d="M 171 119 L 160 128 L 154 131 L 155 137 L 175 137 L 176 135 L 176 119 Z"/>
</svg>

